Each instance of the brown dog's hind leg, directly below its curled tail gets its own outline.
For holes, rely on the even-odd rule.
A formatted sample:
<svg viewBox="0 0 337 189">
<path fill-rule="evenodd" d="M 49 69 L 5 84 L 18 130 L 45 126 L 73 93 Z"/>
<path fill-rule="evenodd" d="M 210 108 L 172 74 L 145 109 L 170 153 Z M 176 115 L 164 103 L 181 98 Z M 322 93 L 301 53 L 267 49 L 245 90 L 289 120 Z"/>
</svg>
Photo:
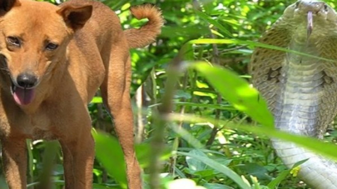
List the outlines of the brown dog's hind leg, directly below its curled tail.
<svg viewBox="0 0 337 189">
<path fill-rule="evenodd" d="M 134 151 L 133 114 L 130 102 L 131 63 L 126 41 L 111 49 L 107 74 L 101 85 L 105 107 L 113 116 L 115 130 L 124 152 L 129 189 L 142 188 L 140 167 Z"/>
</svg>

